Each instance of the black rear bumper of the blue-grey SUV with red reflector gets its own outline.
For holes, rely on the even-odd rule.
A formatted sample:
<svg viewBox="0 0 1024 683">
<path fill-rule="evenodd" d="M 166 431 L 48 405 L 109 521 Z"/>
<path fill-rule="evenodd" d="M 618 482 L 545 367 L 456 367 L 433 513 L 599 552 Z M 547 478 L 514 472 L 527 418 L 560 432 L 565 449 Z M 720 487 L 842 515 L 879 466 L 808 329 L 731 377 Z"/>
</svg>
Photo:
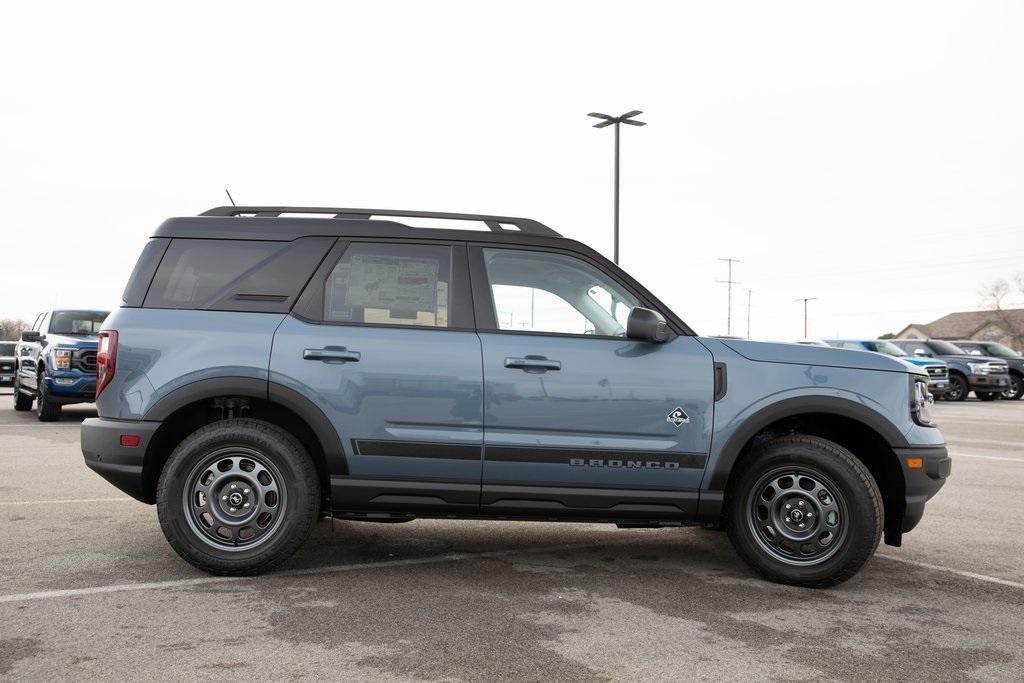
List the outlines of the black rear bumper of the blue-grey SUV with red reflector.
<svg viewBox="0 0 1024 683">
<path fill-rule="evenodd" d="M 143 503 L 153 503 L 142 480 L 142 465 L 153 434 L 162 423 L 89 418 L 82 422 L 85 464 L 112 484 Z M 139 437 L 137 446 L 121 445 L 122 435 Z"/>
</svg>

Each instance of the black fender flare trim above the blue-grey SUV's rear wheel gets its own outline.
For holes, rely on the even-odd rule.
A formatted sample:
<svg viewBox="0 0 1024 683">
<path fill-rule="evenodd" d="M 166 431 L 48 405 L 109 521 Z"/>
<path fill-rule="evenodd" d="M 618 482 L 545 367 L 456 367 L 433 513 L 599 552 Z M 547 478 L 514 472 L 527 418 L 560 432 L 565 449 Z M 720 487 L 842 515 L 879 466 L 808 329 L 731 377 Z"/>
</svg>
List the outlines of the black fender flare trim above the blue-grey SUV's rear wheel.
<svg viewBox="0 0 1024 683">
<path fill-rule="evenodd" d="M 316 403 L 298 391 L 276 382 L 254 377 L 214 377 L 174 389 L 150 407 L 142 418 L 163 422 L 178 410 L 205 398 L 243 396 L 278 403 L 305 421 L 319 440 L 330 474 L 348 474 L 348 463 L 338 430 Z"/>
</svg>

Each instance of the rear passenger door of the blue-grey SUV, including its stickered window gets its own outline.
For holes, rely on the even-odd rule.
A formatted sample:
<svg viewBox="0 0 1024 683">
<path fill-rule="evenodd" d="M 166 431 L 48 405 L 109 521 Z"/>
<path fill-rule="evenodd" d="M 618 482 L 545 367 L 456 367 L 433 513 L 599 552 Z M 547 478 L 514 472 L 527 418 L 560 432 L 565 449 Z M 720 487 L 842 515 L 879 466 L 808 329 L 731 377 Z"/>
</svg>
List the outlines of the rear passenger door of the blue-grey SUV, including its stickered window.
<svg viewBox="0 0 1024 683">
<path fill-rule="evenodd" d="M 476 511 L 483 377 L 464 244 L 340 242 L 274 336 L 270 382 L 337 431 L 336 510 Z"/>
</svg>

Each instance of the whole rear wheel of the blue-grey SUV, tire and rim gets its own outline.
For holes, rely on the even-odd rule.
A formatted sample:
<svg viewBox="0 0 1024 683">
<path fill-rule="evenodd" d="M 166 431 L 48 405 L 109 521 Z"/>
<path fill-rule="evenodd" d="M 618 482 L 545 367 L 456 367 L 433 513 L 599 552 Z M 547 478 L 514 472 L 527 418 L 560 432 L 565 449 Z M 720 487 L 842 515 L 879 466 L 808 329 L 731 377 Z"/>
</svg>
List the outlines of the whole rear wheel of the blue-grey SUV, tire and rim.
<svg viewBox="0 0 1024 683">
<path fill-rule="evenodd" d="M 249 419 L 215 422 L 185 437 L 157 486 L 168 543 L 215 574 L 259 573 L 291 557 L 309 536 L 319 502 L 316 468 L 302 444 Z"/>
</svg>

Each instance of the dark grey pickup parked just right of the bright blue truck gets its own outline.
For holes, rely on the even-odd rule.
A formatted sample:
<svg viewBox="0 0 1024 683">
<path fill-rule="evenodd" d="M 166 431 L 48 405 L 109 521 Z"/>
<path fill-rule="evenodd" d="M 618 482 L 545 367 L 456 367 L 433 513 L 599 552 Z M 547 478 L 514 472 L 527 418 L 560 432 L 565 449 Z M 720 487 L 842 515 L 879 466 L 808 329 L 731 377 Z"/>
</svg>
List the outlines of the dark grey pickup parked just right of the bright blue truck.
<svg viewBox="0 0 1024 683">
<path fill-rule="evenodd" d="M 918 357 L 939 358 L 949 366 L 947 400 L 964 400 L 971 391 L 981 400 L 995 400 L 1010 388 L 1007 361 L 987 355 L 972 355 L 940 339 L 893 339 L 893 344 Z"/>
</svg>

